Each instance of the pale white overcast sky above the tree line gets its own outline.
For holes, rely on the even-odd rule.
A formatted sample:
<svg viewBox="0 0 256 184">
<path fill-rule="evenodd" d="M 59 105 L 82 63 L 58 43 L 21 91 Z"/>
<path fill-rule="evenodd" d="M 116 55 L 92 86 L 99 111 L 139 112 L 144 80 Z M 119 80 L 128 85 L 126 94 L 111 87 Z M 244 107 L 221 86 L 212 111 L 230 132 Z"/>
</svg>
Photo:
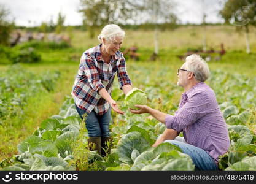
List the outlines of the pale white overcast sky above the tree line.
<svg viewBox="0 0 256 184">
<path fill-rule="evenodd" d="M 180 23 L 200 24 L 203 13 L 207 15 L 207 23 L 223 23 L 218 12 L 225 0 L 170 1 L 176 3 L 174 13 Z M 56 23 L 59 12 L 66 16 L 64 25 L 82 25 L 82 13 L 78 12 L 80 0 L 0 0 L 0 4 L 9 9 L 8 18 L 14 20 L 17 26 L 39 26 L 51 19 Z"/>
</svg>

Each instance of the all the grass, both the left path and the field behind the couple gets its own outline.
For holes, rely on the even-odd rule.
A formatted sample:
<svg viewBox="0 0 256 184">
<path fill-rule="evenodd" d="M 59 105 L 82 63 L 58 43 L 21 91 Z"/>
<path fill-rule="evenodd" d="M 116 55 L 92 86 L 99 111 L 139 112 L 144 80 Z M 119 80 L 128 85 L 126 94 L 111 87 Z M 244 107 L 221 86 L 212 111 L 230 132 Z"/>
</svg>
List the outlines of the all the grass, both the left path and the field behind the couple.
<svg viewBox="0 0 256 184">
<path fill-rule="evenodd" d="M 250 46 L 252 53 L 245 53 L 245 40 L 242 33 L 235 31 L 235 26 L 207 26 L 208 45 L 219 50 L 220 43 L 224 43 L 227 53 L 220 61 L 210 61 L 211 70 L 224 69 L 231 73 L 244 74 L 249 77 L 256 77 L 256 34 L 255 28 L 250 32 Z M 136 45 L 141 60 L 130 61 L 127 59 L 128 74 L 130 74 L 133 86 L 142 88 L 147 76 L 150 80 L 160 83 L 156 76 L 176 83 L 176 71 L 183 61 L 177 55 L 183 55 L 187 48 L 198 48 L 202 45 L 204 29 L 200 26 L 184 26 L 173 31 L 159 33 L 160 53 L 157 61 L 149 61 L 153 53 L 153 31 L 126 31 L 123 48 Z M 12 122 L 0 127 L 0 160 L 17 153 L 17 144 L 30 136 L 41 121 L 54 114 L 58 114 L 64 96 L 71 93 L 72 84 L 76 75 L 80 56 L 84 50 L 99 44 L 95 39 L 89 39 L 87 32 L 73 31 L 72 47 L 63 50 L 39 50 L 42 56 L 41 63 L 22 64 L 26 69 L 33 72 L 46 70 L 59 70 L 61 77 L 58 79 L 55 90 L 52 93 L 38 93 L 29 99 L 25 108 L 25 118 L 12 117 Z M 0 71 L 7 69 L 7 65 L 0 65 Z M 166 73 L 158 73 L 160 68 L 165 68 Z M 148 68 L 148 74 L 142 74 L 141 69 Z M 137 77 L 139 76 L 139 78 Z M 121 93 L 121 91 L 120 91 Z M 171 99 L 173 104 L 179 102 L 180 92 Z M 255 118 L 254 118 L 255 119 Z"/>
</svg>

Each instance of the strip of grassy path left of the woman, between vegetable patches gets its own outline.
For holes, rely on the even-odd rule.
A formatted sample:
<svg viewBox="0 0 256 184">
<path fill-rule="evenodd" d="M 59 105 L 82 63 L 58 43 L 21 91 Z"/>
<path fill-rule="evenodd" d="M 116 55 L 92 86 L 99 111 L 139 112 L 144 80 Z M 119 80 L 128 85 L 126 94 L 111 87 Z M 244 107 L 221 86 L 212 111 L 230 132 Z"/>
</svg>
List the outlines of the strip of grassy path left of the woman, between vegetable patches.
<svg viewBox="0 0 256 184">
<path fill-rule="evenodd" d="M 72 64 L 23 64 L 23 67 L 33 72 L 47 70 L 60 70 L 61 77 L 58 79 L 55 90 L 51 93 L 38 93 L 28 100 L 23 118 L 12 117 L 0 126 L 0 160 L 17 154 L 17 144 L 26 137 L 31 136 L 40 123 L 52 115 L 58 114 L 64 101 L 64 96 L 70 93 L 77 65 Z M 8 123 L 12 122 L 12 123 Z"/>
</svg>

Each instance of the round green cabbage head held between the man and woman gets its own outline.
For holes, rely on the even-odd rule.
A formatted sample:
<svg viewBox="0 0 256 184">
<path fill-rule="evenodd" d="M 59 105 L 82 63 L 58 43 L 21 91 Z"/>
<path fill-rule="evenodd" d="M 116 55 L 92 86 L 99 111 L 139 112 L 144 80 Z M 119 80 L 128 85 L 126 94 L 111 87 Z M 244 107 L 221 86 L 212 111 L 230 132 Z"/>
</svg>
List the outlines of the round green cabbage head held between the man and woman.
<svg viewBox="0 0 256 184">
<path fill-rule="evenodd" d="M 138 88 L 133 88 L 133 90 L 129 91 L 125 96 L 125 104 L 128 108 L 133 110 L 139 110 L 139 108 L 134 105 L 145 105 L 147 104 L 147 94 L 139 90 Z"/>
</svg>

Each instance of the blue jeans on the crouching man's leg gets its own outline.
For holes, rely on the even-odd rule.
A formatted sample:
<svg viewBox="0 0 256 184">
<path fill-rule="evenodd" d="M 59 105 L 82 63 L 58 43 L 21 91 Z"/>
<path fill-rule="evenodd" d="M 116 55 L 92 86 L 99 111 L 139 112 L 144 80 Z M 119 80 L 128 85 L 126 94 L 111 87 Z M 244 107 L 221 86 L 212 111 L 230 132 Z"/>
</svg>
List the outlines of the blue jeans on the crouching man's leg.
<svg viewBox="0 0 256 184">
<path fill-rule="evenodd" d="M 218 166 L 215 163 L 214 159 L 203 149 L 177 140 L 165 140 L 165 142 L 176 145 L 182 150 L 183 153 L 189 155 L 190 158 L 192 158 L 196 169 L 218 170 Z"/>
</svg>

